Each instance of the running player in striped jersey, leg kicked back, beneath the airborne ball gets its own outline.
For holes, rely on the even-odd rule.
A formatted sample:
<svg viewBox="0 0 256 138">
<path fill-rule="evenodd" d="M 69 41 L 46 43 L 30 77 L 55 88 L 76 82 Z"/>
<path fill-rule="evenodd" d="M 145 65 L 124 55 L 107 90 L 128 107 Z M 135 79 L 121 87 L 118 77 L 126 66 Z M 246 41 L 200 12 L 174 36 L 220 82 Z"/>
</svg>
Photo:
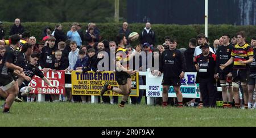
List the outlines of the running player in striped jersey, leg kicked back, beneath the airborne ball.
<svg viewBox="0 0 256 138">
<path fill-rule="evenodd" d="M 117 36 L 118 49 L 115 55 L 115 78 L 119 88 L 115 88 L 109 84 L 105 84 L 101 90 L 101 96 L 105 94 L 107 90 L 113 90 L 113 92 L 123 95 L 122 102 L 119 107 L 125 107 L 125 103 L 131 93 L 131 75 L 135 75 L 137 71 L 129 70 L 129 61 L 133 59 L 135 54 L 141 50 L 141 45 L 137 46 L 136 51 L 133 54 L 129 54 L 129 51 L 125 49 L 127 40 L 125 34 L 119 34 Z"/>
</svg>

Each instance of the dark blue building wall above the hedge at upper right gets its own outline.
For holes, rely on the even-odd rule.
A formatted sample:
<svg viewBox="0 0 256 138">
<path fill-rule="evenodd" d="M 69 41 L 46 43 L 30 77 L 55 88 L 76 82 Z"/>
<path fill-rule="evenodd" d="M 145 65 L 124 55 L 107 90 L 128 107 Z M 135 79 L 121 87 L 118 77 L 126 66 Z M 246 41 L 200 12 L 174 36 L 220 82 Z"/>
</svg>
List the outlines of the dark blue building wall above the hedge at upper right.
<svg viewBox="0 0 256 138">
<path fill-rule="evenodd" d="M 204 0 L 127 0 L 127 20 L 204 24 Z M 209 24 L 256 25 L 256 0 L 209 1 Z"/>
</svg>

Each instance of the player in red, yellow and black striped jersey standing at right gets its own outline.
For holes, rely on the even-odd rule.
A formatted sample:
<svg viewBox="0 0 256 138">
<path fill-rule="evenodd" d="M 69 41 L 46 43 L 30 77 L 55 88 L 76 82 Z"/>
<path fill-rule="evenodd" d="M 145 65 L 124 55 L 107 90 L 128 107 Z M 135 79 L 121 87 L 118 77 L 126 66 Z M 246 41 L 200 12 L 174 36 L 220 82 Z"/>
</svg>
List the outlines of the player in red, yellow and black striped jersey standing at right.
<svg viewBox="0 0 256 138">
<path fill-rule="evenodd" d="M 233 66 L 233 91 L 234 100 L 236 107 L 240 107 L 240 84 L 243 88 L 243 97 L 245 101 L 245 109 L 248 108 L 248 81 L 249 81 L 249 64 L 253 62 L 253 48 L 245 42 L 245 32 L 239 32 L 237 34 L 238 44 L 234 46 L 231 53 L 231 58 L 225 64 L 220 66 L 221 70 L 224 70 L 230 64 L 234 63 Z"/>
</svg>

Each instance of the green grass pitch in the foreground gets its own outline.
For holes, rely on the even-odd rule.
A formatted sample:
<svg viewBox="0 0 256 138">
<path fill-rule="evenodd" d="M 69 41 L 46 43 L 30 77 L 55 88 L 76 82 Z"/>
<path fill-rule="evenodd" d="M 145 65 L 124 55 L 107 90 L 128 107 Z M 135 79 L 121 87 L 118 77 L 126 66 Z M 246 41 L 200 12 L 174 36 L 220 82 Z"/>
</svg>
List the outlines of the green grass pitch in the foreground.
<svg viewBox="0 0 256 138">
<path fill-rule="evenodd" d="M 1 102 L 3 103 L 3 102 Z M 14 103 L 11 114 L 0 113 L 0 126 L 256 126 L 256 110 L 196 109 L 147 105 L 80 103 Z"/>
</svg>

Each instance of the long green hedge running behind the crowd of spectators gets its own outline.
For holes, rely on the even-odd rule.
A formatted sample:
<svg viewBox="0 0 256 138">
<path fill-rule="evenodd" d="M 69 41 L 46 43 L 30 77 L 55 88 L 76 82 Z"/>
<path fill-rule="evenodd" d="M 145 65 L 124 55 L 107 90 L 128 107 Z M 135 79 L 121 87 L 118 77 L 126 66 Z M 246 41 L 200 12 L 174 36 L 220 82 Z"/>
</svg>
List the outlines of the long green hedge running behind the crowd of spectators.
<svg viewBox="0 0 256 138">
<path fill-rule="evenodd" d="M 3 23 L 6 31 L 6 38 L 9 35 L 10 28 L 13 23 Z M 46 23 L 46 22 L 27 22 L 22 23 L 26 31 L 30 31 L 32 36 L 41 39 L 41 34 L 46 26 L 55 28 L 57 23 Z M 69 31 L 71 23 L 61 23 L 63 25 L 64 32 Z M 85 28 L 87 23 L 81 23 L 82 27 Z M 121 23 L 104 23 L 97 24 L 97 27 L 101 31 L 102 40 L 115 40 L 119 29 L 122 27 Z M 129 24 L 129 28 L 133 32 L 141 33 L 145 24 Z M 84 29 L 85 30 L 85 29 Z M 152 24 L 152 30 L 156 33 L 156 45 L 163 44 L 165 36 L 175 36 L 179 48 L 187 48 L 189 39 L 196 38 L 199 33 L 204 33 L 204 25 L 176 25 L 176 24 Z M 245 31 L 247 33 L 246 41 L 250 42 L 250 38 L 256 36 L 256 26 L 234 26 L 234 25 L 209 25 L 209 40 L 213 43 L 215 39 L 221 37 L 223 33 L 228 33 L 230 36 L 236 35 L 239 31 Z M 133 45 L 138 42 L 134 42 Z"/>
</svg>

